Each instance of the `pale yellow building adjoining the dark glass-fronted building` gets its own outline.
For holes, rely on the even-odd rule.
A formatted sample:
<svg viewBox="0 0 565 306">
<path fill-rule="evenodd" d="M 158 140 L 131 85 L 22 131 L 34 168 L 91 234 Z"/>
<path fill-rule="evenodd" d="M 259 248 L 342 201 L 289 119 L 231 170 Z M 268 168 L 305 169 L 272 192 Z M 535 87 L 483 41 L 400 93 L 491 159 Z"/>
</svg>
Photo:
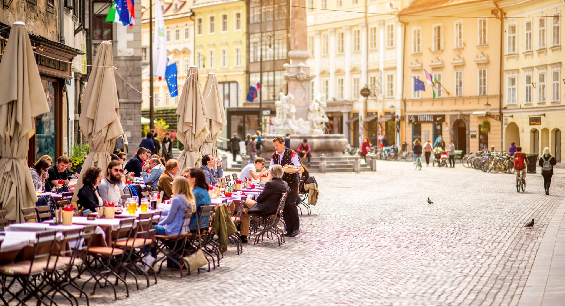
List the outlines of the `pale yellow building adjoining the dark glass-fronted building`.
<svg viewBox="0 0 565 306">
<path fill-rule="evenodd" d="M 194 63 L 201 84 L 208 73 L 215 73 L 224 108 L 242 106 L 247 95 L 246 2 L 197 0 L 192 12 Z"/>
</svg>

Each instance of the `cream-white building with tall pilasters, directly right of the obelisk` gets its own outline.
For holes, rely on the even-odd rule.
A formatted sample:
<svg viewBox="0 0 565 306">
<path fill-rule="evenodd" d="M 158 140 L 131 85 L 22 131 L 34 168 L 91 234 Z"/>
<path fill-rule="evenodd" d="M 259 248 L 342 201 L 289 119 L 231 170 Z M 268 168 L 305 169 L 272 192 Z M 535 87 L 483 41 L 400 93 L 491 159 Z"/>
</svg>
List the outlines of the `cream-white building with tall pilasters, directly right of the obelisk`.
<svg viewBox="0 0 565 306">
<path fill-rule="evenodd" d="M 354 146 L 359 145 L 359 123 L 361 134 L 371 138 L 383 133 L 391 145 L 396 142 L 396 116 L 404 115 L 404 25 L 394 15 L 373 13 L 396 14 L 407 4 L 404 0 L 307 1 L 307 7 L 341 10 L 307 8 L 308 66 L 316 75 L 311 98 L 318 93 L 326 97 L 328 132 L 345 134 Z M 371 90 L 367 100 L 360 95 L 364 87 Z"/>
</svg>

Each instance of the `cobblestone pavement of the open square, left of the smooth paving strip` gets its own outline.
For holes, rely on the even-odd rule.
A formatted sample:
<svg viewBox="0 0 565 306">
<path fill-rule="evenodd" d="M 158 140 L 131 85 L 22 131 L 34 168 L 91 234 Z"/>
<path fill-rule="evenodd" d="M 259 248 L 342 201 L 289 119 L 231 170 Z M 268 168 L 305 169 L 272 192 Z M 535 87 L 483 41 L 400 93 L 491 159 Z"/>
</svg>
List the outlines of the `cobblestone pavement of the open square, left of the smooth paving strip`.
<svg viewBox="0 0 565 306">
<path fill-rule="evenodd" d="M 529 176 L 516 193 L 510 174 L 457 167 L 315 174 L 319 205 L 298 237 L 241 255 L 229 246 L 210 273 L 164 272 L 128 299 L 105 289 L 90 305 L 516 305 L 565 179 L 546 196 Z"/>
</svg>

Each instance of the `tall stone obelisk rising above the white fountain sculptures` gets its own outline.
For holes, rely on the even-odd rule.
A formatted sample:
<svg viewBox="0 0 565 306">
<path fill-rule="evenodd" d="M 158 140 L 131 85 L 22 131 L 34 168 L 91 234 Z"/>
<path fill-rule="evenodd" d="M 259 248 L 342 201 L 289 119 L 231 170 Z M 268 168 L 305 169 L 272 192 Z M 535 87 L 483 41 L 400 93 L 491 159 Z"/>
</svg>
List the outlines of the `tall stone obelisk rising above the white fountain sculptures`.
<svg viewBox="0 0 565 306">
<path fill-rule="evenodd" d="M 306 24 L 306 0 L 292 0 L 290 11 L 290 65 L 285 64 L 285 79 L 288 81 L 288 92 L 294 96 L 296 117 L 307 121 L 310 105 L 310 86 L 314 78 L 310 75 L 310 67 L 306 60 L 308 53 L 308 28 Z"/>
</svg>

